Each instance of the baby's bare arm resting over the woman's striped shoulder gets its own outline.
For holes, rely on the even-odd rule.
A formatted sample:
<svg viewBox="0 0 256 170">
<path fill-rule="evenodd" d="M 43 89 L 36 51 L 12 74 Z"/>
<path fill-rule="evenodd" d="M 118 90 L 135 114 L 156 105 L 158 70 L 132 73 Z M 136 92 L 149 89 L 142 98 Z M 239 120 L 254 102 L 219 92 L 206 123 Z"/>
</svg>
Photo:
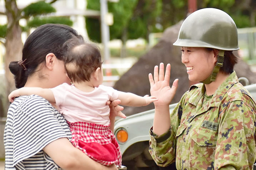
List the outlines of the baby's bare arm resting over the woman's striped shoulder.
<svg viewBox="0 0 256 170">
<path fill-rule="evenodd" d="M 55 98 L 53 96 L 53 92 L 49 88 L 40 88 L 40 87 L 22 87 L 14 90 L 8 96 L 10 102 L 13 102 L 15 97 L 24 96 L 24 95 L 38 95 L 49 102 L 55 103 Z"/>
</svg>

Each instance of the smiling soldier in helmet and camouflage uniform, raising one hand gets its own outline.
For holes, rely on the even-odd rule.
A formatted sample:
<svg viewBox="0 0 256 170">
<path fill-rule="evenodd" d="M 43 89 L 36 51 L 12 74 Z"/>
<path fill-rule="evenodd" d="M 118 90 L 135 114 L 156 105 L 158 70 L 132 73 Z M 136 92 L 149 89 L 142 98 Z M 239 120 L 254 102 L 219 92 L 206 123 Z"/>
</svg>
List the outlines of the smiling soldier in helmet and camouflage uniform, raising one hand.
<svg viewBox="0 0 256 170">
<path fill-rule="evenodd" d="M 177 169 L 253 169 L 256 159 L 256 104 L 238 82 L 233 66 L 237 28 L 225 12 L 206 8 L 183 22 L 178 39 L 188 78 L 199 81 L 169 113 L 178 80 L 169 86 L 171 66 L 149 74 L 155 115 L 149 152 L 159 166 L 176 161 Z"/>
</svg>

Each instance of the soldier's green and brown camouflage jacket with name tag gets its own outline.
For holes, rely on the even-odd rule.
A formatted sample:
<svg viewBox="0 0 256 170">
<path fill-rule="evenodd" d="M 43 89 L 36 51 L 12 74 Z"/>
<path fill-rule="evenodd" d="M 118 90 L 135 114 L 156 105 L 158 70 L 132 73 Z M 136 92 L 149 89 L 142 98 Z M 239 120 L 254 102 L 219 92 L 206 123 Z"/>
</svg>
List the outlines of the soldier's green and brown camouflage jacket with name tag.
<svg viewBox="0 0 256 170">
<path fill-rule="evenodd" d="M 235 71 L 203 103 L 205 86 L 189 88 L 170 115 L 171 128 L 157 136 L 149 130 L 149 152 L 159 166 L 253 169 L 256 159 L 256 105 Z"/>
</svg>

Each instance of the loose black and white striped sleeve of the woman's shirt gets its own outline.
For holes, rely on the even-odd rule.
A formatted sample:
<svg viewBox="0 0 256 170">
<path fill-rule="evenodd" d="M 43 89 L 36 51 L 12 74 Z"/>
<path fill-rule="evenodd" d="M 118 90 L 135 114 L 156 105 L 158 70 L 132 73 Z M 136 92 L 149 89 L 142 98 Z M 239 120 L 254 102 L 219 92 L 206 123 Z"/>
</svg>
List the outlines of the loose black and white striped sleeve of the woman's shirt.
<svg viewBox="0 0 256 170">
<path fill-rule="evenodd" d="M 13 164 L 37 154 L 50 142 L 68 138 L 55 109 L 39 96 L 19 102 L 13 114 Z"/>
</svg>

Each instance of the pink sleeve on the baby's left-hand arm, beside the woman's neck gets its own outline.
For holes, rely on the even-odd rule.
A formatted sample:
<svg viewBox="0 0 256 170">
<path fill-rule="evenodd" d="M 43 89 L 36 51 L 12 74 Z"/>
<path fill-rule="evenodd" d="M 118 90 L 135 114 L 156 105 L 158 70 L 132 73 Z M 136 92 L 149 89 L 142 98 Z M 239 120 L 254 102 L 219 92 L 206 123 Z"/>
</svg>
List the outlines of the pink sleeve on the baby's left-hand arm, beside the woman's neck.
<svg viewBox="0 0 256 170">
<path fill-rule="evenodd" d="M 56 105 L 62 105 L 65 100 L 67 89 L 69 88 L 69 85 L 67 83 L 60 84 L 59 86 L 56 86 L 54 88 L 50 88 L 53 92 L 53 96 L 55 98 Z"/>
</svg>

